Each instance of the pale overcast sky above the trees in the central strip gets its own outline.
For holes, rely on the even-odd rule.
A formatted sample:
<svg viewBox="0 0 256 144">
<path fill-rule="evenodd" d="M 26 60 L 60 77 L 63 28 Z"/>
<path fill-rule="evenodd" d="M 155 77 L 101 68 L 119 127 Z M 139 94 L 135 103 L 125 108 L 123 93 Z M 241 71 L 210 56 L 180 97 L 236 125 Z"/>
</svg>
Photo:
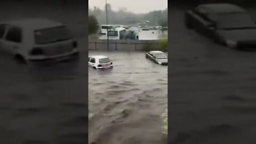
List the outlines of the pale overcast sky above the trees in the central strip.
<svg viewBox="0 0 256 144">
<path fill-rule="evenodd" d="M 167 8 L 167 0 L 107 0 L 111 9 L 117 11 L 120 7 L 126 7 L 127 11 L 134 13 L 147 13 L 154 10 L 164 10 Z M 105 0 L 89 0 L 89 7 L 94 6 L 105 8 Z"/>
</svg>

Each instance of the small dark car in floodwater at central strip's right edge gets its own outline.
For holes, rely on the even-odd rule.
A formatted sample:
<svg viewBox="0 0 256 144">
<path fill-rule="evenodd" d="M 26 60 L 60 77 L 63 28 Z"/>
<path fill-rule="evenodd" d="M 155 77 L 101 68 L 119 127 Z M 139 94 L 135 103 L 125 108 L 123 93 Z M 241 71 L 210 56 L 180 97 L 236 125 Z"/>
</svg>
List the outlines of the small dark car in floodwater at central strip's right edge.
<svg viewBox="0 0 256 144">
<path fill-rule="evenodd" d="M 146 53 L 146 59 L 149 59 L 158 65 L 167 65 L 168 58 L 167 55 L 162 51 L 150 51 Z"/>
</svg>

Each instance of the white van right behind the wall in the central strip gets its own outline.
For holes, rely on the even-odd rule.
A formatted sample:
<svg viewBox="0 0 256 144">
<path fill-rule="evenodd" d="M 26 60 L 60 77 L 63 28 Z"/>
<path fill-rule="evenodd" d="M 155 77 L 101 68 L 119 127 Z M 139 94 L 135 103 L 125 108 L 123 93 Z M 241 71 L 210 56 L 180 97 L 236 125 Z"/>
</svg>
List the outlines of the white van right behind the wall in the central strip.
<svg viewBox="0 0 256 144">
<path fill-rule="evenodd" d="M 125 39 L 127 30 L 125 28 L 110 29 L 107 33 L 109 39 Z"/>
</svg>

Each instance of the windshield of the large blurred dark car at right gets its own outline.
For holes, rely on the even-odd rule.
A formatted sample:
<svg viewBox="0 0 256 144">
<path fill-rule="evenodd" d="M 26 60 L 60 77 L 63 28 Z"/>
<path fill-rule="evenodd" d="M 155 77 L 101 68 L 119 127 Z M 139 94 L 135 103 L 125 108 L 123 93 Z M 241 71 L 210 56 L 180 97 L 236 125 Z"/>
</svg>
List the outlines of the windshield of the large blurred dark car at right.
<svg viewBox="0 0 256 144">
<path fill-rule="evenodd" d="M 249 14 L 245 12 L 211 15 L 219 29 L 244 29 L 256 28 Z"/>
</svg>

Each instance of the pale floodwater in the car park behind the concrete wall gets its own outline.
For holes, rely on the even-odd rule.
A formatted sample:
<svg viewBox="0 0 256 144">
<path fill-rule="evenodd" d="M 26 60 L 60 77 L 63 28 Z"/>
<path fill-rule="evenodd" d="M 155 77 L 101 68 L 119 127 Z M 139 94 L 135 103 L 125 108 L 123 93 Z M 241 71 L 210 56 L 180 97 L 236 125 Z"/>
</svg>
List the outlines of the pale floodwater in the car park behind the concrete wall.
<svg viewBox="0 0 256 144">
<path fill-rule="evenodd" d="M 139 40 L 156 40 L 167 37 L 167 31 L 161 30 L 140 30 Z M 107 39 L 107 35 L 100 35 L 99 39 Z"/>
</svg>

